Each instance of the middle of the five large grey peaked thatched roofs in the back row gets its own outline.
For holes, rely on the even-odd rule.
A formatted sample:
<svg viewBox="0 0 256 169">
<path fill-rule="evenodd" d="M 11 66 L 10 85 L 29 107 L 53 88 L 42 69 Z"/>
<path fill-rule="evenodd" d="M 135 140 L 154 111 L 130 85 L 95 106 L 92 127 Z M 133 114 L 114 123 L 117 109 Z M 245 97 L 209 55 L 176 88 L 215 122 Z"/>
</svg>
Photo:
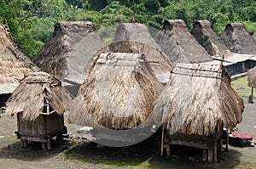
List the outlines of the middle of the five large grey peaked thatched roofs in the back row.
<svg viewBox="0 0 256 169">
<path fill-rule="evenodd" d="M 173 62 L 199 63 L 212 60 L 205 48 L 190 34 L 183 20 L 166 20 L 157 33 L 156 42 Z"/>
</svg>

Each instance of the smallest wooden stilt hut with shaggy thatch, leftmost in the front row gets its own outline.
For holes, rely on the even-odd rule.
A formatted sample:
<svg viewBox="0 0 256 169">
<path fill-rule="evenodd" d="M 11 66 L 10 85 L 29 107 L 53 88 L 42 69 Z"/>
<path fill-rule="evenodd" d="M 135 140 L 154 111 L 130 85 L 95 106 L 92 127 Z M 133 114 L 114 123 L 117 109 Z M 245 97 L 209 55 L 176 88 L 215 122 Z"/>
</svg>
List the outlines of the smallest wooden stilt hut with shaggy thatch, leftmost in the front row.
<svg viewBox="0 0 256 169">
<path fill-rule="evenodd" d="M 9 98 L 6 113 L 17 115 L 16 134 L 22 147 L 27 146 L 27 141 L 35 141 L 42 142 L 43 149 L 51 149 L 50 139 L 61 138 L 67 132 L 63 114 L 70 104 L 70 96 L 61 82 L 39 71 L 20 81 Z"/>
</svg>

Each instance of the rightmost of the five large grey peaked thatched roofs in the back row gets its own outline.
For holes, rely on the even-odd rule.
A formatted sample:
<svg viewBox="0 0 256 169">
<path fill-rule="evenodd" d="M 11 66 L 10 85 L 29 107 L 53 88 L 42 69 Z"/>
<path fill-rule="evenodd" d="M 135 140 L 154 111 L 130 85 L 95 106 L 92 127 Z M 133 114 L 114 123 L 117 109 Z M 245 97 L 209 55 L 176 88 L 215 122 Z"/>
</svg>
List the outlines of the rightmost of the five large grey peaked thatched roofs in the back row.
<svg viewBox="0 0 256 169">
<path fill-rule="evenodd" d="M 232 23 L 225 27 L 221 39 L 231 52 L 237 54 L 256 54 L 256 41 L 242 23 Z"/>
</svg>

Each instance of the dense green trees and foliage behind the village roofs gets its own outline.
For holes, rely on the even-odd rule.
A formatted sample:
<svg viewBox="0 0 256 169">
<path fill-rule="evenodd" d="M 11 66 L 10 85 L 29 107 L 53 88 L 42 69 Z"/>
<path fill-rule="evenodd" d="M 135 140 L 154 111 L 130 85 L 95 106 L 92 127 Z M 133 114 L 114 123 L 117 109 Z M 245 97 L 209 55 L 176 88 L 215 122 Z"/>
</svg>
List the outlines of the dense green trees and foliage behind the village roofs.
<svg viewBox="0 0 256 169">
<path fill-rule="evenodd" d="M 244 23 L 251 34 L 256 31 L 255 0 L 0 0 L 0 8 L 0 23 L 9 26 L 15 43 L 31 58 L 55 23 L 65 20 L 90 20 L 98 30 L 131 18 L 156 28 L 164 20 L 182 19 L 189 29 L 195 20 L 209 20 L 217 34 L 230 22 Z"/>
</svg>

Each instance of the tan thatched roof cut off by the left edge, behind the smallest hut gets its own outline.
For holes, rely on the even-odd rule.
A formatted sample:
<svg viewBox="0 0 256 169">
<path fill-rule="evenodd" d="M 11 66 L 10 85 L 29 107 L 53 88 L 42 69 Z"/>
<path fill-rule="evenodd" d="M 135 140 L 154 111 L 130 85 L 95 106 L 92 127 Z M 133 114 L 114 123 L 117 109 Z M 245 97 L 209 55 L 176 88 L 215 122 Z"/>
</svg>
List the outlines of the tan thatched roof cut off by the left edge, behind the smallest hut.
<svg viewBox="0 0 256 169">
<path fill-rule="evenodd" d="M 37 70 L 38 67 L 20 52 L 4 25 L 0 24 L 0 83 L 18 83 L 24 76 Z"/>
</svg>

